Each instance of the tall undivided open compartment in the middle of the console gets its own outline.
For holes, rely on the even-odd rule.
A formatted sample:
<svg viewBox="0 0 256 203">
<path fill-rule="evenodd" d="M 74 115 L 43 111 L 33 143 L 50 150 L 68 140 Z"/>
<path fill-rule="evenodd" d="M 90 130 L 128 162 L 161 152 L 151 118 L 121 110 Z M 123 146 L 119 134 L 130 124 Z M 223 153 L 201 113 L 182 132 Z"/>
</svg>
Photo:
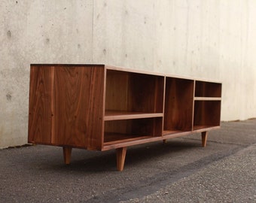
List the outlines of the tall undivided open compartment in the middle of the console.
<svg viewBox="0 0 256 203">
<path fill-rule="evenodd" d="M 194 80 L 166 77 L 163 135 L 192 130 Z"/>
</svg>

